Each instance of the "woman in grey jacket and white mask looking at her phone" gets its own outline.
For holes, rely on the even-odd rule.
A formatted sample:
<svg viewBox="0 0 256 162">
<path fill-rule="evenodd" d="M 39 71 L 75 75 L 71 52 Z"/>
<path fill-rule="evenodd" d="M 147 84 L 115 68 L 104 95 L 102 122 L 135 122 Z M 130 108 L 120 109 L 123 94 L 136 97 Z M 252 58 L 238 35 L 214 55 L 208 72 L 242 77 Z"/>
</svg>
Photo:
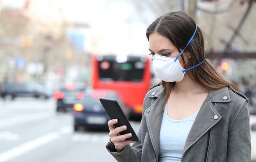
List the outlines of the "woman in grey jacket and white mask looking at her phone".
<svg viewBox="0 0 256 162">
<path fill-rule="evenodd" d="M 161 85 L 145 96 L 139 141 L 109 120 L 107 150 L 119 162 L 251 162 L 248 100 L 205 58 L 195 21 L 169 12 L 146 35 Z"/>
</svg>

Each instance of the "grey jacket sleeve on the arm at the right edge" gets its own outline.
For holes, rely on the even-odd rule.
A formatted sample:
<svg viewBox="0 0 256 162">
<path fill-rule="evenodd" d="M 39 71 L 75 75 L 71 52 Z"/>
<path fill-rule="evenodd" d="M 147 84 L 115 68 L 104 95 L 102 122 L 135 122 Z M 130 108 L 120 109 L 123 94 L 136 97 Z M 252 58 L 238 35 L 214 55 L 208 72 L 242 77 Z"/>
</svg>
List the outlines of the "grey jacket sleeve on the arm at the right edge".
<svg viewBox="0 0 256 162">
<path fill-rule="evenodd" d="M 228 133 L 227 162 L 251 162 L 251 134 L 246 100 L 239 108 Z"/>
</svg>

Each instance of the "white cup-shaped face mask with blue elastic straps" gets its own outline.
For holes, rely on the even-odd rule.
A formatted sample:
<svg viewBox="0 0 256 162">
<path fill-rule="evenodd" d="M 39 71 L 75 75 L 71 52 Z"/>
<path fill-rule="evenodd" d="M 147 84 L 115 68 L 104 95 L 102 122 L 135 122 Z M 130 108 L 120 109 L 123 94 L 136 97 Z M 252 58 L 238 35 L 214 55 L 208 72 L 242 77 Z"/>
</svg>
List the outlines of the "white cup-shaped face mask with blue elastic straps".
<svg viewBox="0 0 256 162">
<path fill-rule="evenodd" d="M 193 36 L 191 37 L 191 39 L 189 40 L 189 42 L 187 43 L 185 48 L 192 41 L 193 37 L 195 36 L 196 30 L 197 30 L 197 26 L 195 28 L 195 32 L 194 32 Z M 192 66 L 186 70 L 183 69 L 183 67 L 181 66 L 181 64 L 178 61 L 178 58 L 181 56 L 181 54 L 183 53 L 185 48 L 180 52 L 180 54 L 176 58 L 161 56 L 159 54 L 155 54 L 152 57 L 154 71 L 155 71 L 156 76 L 159 79 L 161 79 L 165 82 L 179 82 L 184 78 L 186 71 L 189 71 L 189 70 L 195 68 L 196 66 L 201 65 L 205 61 L 205 57 L 204 57 L 204 60 L 202 62 L 198 63 L 197 65 Z"/>
</svg>

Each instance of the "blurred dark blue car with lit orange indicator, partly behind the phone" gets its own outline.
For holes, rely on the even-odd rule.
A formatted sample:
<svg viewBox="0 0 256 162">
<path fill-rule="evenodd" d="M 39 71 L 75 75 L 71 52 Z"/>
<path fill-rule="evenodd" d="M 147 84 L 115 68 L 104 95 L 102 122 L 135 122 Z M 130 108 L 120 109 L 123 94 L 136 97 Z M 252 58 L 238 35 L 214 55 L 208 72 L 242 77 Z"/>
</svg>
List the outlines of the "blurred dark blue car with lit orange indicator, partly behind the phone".
<svg viewBox="0 0 256 162">
<path fill-rule="evenodd" d="M 100 98 L 117 100 L 126 117 L 129 119 L 129 109 L 124 107 L 121 98 L 115 91 L 93 90 L 84 94 L 82 100 L 74 104 L 74 130 L 79 127 L 85 129 L 108 129 L 107 112 L 100 103 Z"/>
</svg>

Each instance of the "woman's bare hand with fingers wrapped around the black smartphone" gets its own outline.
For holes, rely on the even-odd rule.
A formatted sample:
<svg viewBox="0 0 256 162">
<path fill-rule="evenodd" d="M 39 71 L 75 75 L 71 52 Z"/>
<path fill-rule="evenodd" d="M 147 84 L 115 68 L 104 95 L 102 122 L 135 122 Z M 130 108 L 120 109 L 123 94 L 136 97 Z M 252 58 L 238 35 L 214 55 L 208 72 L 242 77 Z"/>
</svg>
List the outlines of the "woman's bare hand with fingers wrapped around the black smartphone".
<svg viewBox="0 0 256 162">
<path fill-rule="evenodd" d="M 126 138 L 129 138 L 132 136 L 131 133 L 119 135 L 120 132 L 127 129 L 127 126 L 123 125 L 121 127 L 116 128 L 114 124 L 117 124 L 117 122 L 118 122 L 117 119 L 112 119 L 108 121 L 108 129 L 109 129 L 108 135 L 111 139 L 111 142 L 115 145 L 117 152 L 121 152 L 121 150 L 123 150 L 123 148 L 126 145 L 133 143 L 134 141 L 126 140 Z"/>
</svg>

